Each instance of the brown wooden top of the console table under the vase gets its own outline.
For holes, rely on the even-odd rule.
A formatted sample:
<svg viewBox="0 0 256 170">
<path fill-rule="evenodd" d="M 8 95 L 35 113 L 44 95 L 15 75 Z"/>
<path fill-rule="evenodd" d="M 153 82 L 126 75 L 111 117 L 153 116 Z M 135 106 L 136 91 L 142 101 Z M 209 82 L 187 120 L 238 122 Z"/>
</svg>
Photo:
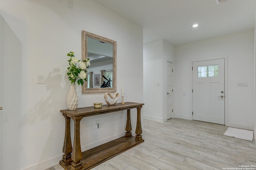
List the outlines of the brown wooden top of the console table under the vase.
<svg viewBox="0 0 256 170">
<path fill-rule="evenodd" d="M 84 108 L 77 108 L 76 110 L 60 110 L 63 114 L 66 114 L 67 116 L 94 116 L 98 114 L 105 114 L 110 112 L 118 112 L 121 110 L 127 110 L 131 108 L 138 108 L 140 106 L 144 105 L 144 103 L 134 103 L 134 102 L 125 102 L 125 104 L 116 103 L 114 106 L 109 105 L 102 105 L 101 108 L 94 108 L 94 106 L 90 107 L 84 107 Z"/>
</svg>

